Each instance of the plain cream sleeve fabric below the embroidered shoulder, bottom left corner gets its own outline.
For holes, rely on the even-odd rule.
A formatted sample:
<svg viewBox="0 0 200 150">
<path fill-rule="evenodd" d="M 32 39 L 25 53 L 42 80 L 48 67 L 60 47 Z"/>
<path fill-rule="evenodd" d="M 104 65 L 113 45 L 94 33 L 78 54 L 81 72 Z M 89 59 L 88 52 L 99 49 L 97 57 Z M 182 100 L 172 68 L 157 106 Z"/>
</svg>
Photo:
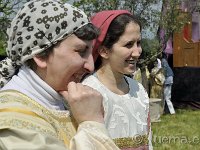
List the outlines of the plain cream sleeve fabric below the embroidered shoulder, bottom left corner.
<svg viewBox="0 0 200 150">
<path fill-rule="evenodd" d="M 0 128 L 0 149 L 19 150 L 29 148 L 32 150 L 66 150 L 64 143 L 56 137 L 14 127 Z"/>
</svg>

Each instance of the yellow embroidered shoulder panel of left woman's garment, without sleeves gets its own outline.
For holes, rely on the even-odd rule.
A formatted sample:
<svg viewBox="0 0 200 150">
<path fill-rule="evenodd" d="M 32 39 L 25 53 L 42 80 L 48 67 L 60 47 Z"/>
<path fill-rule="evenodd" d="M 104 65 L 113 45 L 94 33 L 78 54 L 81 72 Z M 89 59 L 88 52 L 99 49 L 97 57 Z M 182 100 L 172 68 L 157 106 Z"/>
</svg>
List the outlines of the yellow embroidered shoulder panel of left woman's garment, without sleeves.
<svg viewBox="0 0 200 150">
<path fill-rule="evenodd" d="M 15 90 L 1 91 L 0 99 L 0 129 L 6 126 L 37 131 L 54 136 L 64 143 L 69 143 L 76 133 L 68 111 L 47 109 Z M 24 116 L 29 119 L 25 119 Z"/>
</svg>

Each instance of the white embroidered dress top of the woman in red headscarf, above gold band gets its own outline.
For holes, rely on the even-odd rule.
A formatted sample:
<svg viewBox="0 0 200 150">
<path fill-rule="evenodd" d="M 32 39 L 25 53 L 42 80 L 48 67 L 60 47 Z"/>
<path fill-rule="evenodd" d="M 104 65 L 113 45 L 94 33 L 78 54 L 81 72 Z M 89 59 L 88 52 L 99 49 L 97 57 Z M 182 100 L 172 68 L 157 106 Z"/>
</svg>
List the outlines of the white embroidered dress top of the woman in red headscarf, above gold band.
<svg viewBox="0 0 200 150">
<path fill-rule="evenodd" d="M 148 95 L 140 83 L 128 77 L 126 79 L 130 91 L 125 95 L 111 92 L 94 75 L 82 82 L 103 95 L 105 124 L 113 139 L 148 134 Z"/>
</svg>

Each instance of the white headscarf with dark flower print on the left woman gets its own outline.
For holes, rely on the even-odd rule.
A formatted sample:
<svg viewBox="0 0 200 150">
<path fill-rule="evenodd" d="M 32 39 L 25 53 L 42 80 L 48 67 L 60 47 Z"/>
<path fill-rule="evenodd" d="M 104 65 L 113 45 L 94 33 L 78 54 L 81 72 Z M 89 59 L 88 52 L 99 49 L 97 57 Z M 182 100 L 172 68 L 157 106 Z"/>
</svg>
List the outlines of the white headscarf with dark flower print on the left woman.
<svg viewBox="0 0 200 150">
<path fill-rule="evenodd" d="M 0 62 L 3 87 L 26 60 L 90 23 L 85 13 L 59 0 L 26 3 L 8 28 L 7 58 Z"/>
</svg>

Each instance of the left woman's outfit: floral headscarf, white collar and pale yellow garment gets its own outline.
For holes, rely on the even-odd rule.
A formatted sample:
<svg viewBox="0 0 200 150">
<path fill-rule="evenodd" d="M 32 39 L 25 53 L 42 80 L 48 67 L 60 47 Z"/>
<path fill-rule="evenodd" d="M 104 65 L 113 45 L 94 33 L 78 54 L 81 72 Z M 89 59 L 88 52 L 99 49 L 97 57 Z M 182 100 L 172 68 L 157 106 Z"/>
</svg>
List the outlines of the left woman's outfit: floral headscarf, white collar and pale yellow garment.
<svg viewBox="0 0 200 150">
<path fill-rule="evenodd" d="M 77 126 L 63 97 L 25 63 L 89 23 L 81 10 L 57 0 L 30 1 L 19 10 L 0 62 L 0 149 L 118 149 L 103 124 Z"/>
</svg>

